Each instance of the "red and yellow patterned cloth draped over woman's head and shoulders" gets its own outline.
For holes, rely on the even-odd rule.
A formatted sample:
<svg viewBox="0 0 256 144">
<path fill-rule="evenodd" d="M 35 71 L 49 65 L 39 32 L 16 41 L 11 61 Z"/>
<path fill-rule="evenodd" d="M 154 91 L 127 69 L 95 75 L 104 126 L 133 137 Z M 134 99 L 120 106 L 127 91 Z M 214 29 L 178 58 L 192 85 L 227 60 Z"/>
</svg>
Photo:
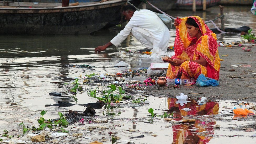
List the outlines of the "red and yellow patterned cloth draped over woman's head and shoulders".
<svg viewBox="0 0 256 144">
<path fill-rule="evenodd" d="M 186 50 L 191 41 L 195 39 L 195 37 L 191 38 L 187 33 L 185 23 L 188 18 L 193 18 L 195 20 L 196 24 L 199 26 L 202 36 L 196 41 L 195 45 L 193 46 L 194 49 L 190 48 L 189 50 Z M 175 56 L 183 60 L 197 60 L 199 56 L 201 56 L 212 68 L 219 72 L 220 57 L 218 53 L 216 34 L 213 33 L 204 23 L 204 21 L 198 16 L 180 18 L 177 19 L 176 22 L 178 22 L 179 25 L 176 26 L 176 38 L 174 41 Z"/>
</svg>

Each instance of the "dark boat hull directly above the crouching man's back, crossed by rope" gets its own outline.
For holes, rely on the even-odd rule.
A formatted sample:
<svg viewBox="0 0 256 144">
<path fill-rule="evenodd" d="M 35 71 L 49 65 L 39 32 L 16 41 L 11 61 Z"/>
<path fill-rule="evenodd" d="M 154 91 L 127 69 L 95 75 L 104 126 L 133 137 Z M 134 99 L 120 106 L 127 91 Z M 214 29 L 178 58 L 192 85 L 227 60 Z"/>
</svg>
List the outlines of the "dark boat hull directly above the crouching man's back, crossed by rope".
<svg viewBox="0 0 256 144">
<path fill-rule="evenodd" d="M 173 5 L 176 3 L 177 0 L 148 0 L 151 4 L 166 12 L 167 10 L 172 9 Z M 142 3 L 139 5 L 140 9 L 142 9 Z M 153 8 L 150 4 L 146 4 L 146 9 L 149 9 L 154 12 L 158 12 L 155 8 Z"/>
</svg>

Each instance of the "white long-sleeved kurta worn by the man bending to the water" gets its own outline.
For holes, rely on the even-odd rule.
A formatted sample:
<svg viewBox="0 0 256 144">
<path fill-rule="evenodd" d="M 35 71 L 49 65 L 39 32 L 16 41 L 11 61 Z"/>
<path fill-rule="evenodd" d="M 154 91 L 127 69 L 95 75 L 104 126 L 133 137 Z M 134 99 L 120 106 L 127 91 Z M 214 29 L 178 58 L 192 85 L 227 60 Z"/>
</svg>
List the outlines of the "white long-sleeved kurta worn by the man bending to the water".
<svg viewBox="0 0 256 144">
<path fill-rule="evenodd" d="M 167 51 L 170 39 L 169 30 L 154 12 L 147 9 L 136 10 L 124 30 L 121 30 L 110 42 L 118 46 L 127 38 L 134 27 L 145 29 L 150 33 L 148 36 L 153 38 L 153 49 L 159 48 L 162 51 Z"/>
</svg>

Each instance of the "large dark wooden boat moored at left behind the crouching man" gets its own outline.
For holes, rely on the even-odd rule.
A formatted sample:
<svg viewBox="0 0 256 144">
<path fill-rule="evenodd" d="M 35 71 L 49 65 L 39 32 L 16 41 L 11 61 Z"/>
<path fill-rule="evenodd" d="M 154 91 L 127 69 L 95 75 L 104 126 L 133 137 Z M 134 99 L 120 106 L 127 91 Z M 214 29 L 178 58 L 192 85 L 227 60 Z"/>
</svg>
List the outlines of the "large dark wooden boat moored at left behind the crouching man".
<svg viewBox="0 0 256 144">
<path fill-rule="evenodd" d="M 128 0 L 135 6 L 140 0 Z M 69 7 L 0 7 L 0 34 L 89 34 L 121 20 L 127 0 Z"/>
</svg>

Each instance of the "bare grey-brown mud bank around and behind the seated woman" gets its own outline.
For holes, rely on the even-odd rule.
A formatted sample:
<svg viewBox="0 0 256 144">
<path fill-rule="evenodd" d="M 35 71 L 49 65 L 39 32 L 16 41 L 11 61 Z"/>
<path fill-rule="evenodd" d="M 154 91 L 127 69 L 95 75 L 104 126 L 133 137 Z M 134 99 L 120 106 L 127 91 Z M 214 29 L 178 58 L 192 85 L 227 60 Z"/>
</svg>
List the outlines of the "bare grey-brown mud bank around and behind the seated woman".
<svg viewBox="0 0 256 144">
<path fill-rule="evenodd" d="M 179 86 L 147 87 L 146 94 L 170 97 L 173 93 L 186 93 L 190 97 L 207 97 L 212 100 L 246 100 L 256 102 L 256 46 L 251 51 L 244 47 L 218 47 L 221 61 L 220 85 L 218 87 Z M 221 56 L 228 55 L 228 56 Z M 251 65 L 251 67 L 233 67 L 231 65 Z"/>
</svg>

